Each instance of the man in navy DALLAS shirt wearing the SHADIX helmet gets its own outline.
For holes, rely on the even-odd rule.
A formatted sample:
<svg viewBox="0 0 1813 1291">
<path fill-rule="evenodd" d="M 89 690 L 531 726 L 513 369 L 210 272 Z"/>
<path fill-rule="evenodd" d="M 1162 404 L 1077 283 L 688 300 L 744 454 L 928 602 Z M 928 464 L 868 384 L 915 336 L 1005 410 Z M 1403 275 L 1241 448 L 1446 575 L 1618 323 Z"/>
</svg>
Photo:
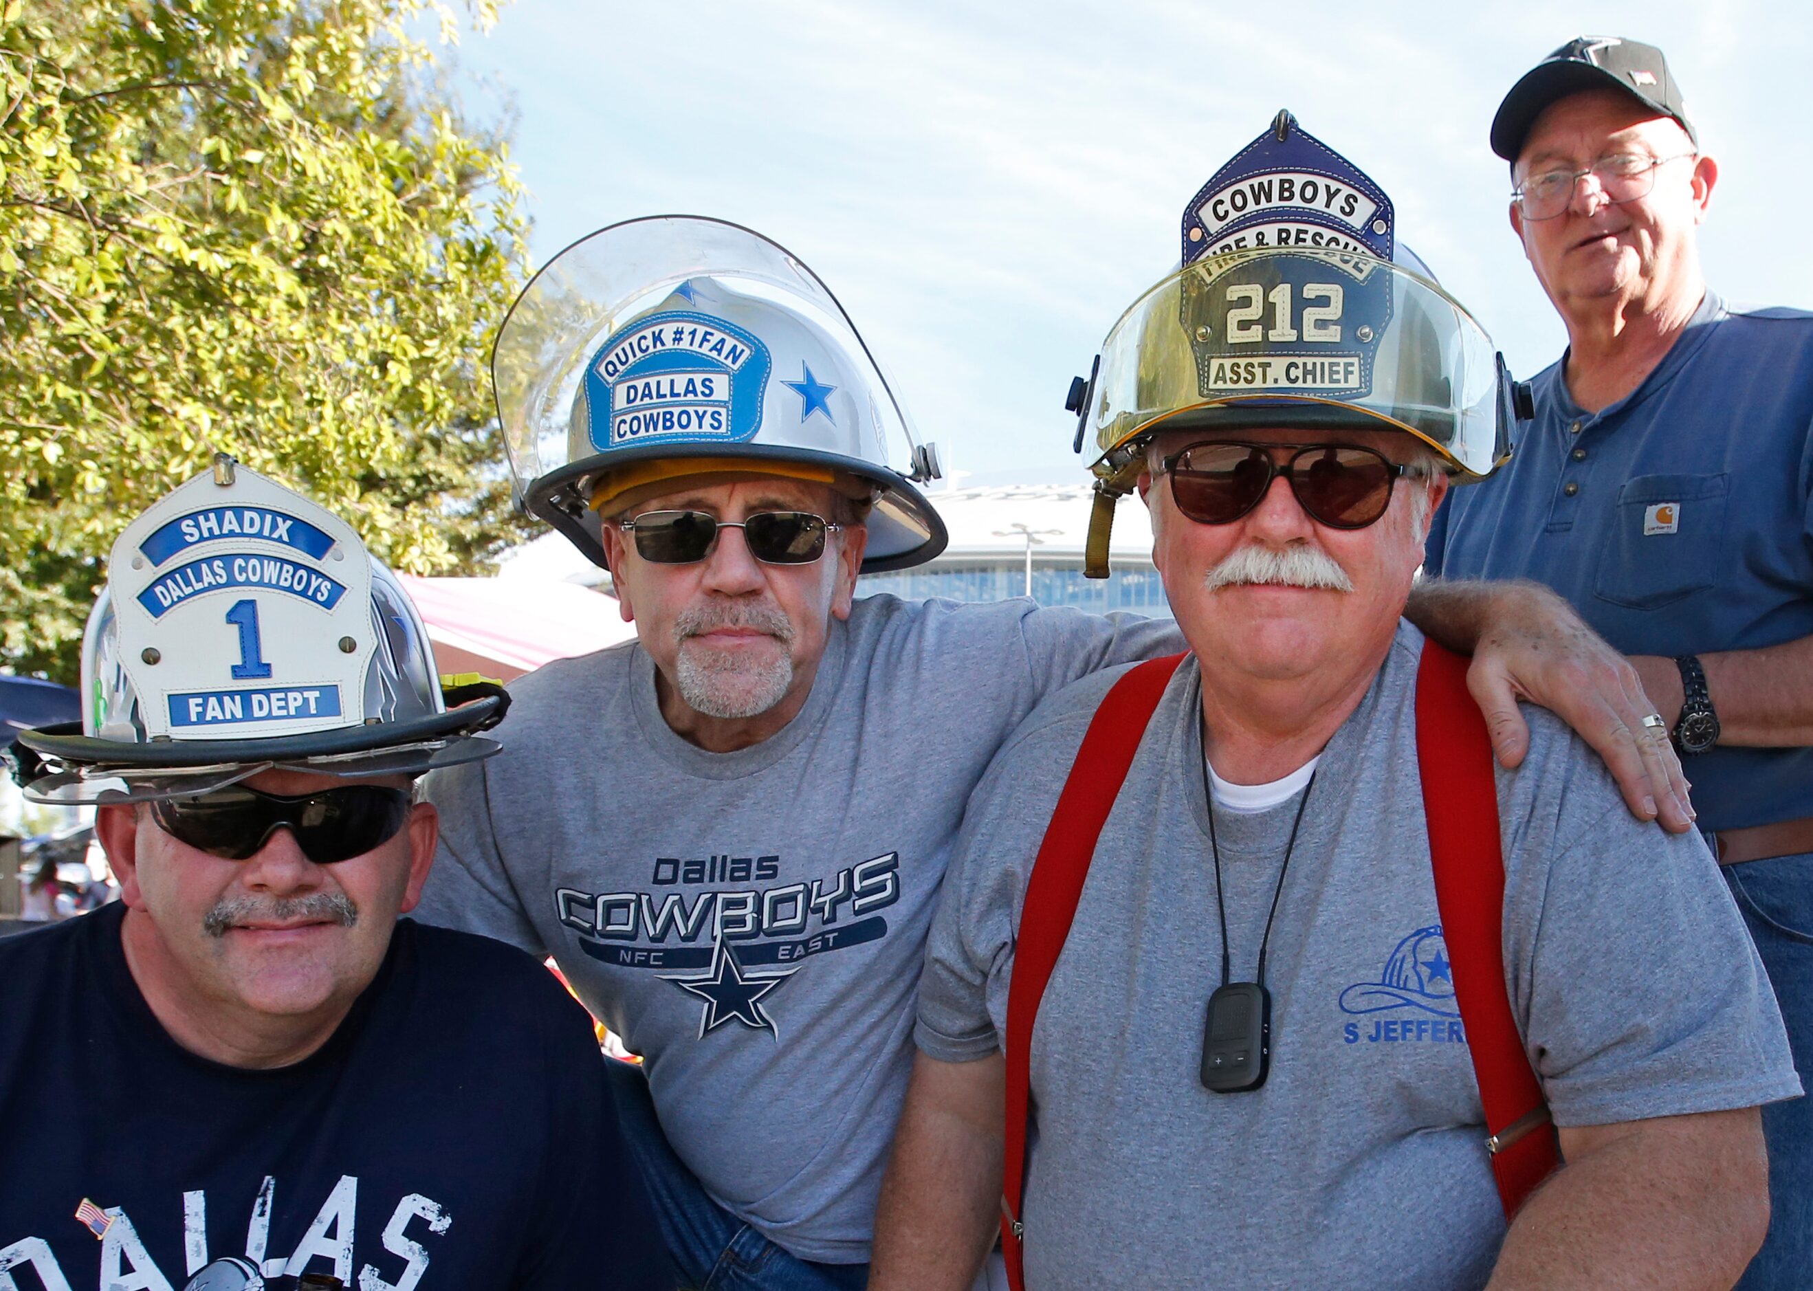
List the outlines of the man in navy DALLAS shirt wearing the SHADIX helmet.
<svg viewBox="0 0 1813 1291">
<path fill-rule="evenodd" d="M 121 899 L 0 943 L 0 1286 L 664 1286 L 589 1019 L 399 921 L 413 781 L 506 696 L 446 707 L 357 533 L 218 457 L 114 544 L 82 694 L 18 760 Z"/>
</svg>

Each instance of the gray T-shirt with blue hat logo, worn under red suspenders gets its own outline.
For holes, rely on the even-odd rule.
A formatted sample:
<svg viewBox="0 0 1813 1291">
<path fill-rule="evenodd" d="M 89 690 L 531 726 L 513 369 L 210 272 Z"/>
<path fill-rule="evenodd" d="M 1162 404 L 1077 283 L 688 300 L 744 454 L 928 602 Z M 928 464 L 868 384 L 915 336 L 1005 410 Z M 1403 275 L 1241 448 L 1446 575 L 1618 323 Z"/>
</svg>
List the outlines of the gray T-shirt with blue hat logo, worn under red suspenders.
<svg viewBox="0 0 1813 1291">
<path fill-rule="evenodd" d="M 1264 1088 L 1198 1079 L 1220 932 L 1200 675 L 1171 680 L 1039 1010 L 1028 1286 L 1476 1287 L 1505 1235 L 1449 974 L 1416 765 L 1421 635 L 1401 624 L 1329 742 L 1265 959 Z M 1048 700 L 970 801 L 919 986 L 919 1046 L 986 1057 L 1026 874 L 1115 675 Z M 1561 1126 L 1798 1093 L 1775 997 L 1697 834 L 1624 811 L 1599 760 L 1527 709 L 1498 772 L 1505 974 Z M 1217 811 L 1235 979 L 1253 979 L 1296 798 Z"/>
</svg>

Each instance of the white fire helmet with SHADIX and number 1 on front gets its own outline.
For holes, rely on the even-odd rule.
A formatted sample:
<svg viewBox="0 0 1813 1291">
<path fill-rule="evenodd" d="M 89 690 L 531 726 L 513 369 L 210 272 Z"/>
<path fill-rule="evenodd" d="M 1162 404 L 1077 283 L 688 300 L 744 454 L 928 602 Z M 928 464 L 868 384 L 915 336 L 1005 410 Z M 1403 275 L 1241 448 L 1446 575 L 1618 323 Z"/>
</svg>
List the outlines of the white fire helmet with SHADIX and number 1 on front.
<svg viewBox="0 0 1813 1291">
<path fill-rule="evenodd" d="M 82 729 L 20 736 L 25 794 L 141 801 L 270 767 L 475 762 L 497 752 L 477 733 L 508 696 L 466 694 L 448 711 L 415 606 L 352 526 L 218 455 L 114 542 L 82 640 Z"/>
</svg>

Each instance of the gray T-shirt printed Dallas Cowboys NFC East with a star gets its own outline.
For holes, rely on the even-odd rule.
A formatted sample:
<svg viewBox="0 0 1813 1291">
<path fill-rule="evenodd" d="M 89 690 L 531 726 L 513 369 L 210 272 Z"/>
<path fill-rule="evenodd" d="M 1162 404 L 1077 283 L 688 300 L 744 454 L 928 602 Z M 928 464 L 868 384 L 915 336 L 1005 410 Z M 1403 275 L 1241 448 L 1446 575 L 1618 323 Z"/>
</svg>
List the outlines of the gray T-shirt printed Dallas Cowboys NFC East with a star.
<svg viewBox="0 0 1813 1291">
<path fill-rule="evenodd" d="M 551 954 L 725 1209 L 867 1260 L 970 791 L 1042 696 L 1180 647 L 1169 622 L 868 597 L 800 716 L 725 754 L 667 727 L 640 646 L 549 664 L 509 687 L 502 754 L 430 778 L 415 916 Z"/>
</svg>

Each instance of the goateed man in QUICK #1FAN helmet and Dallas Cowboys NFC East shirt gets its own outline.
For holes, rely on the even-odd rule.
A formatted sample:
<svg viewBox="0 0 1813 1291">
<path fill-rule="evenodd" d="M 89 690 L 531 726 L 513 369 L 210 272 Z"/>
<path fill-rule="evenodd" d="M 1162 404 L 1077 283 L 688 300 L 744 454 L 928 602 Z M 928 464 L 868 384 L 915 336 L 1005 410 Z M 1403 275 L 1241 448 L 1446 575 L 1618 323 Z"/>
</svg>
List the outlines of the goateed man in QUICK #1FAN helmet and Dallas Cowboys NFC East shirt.
<svg viewBox="0 0 1813 1291">
<path fill-rule="evenodd" d="M 934 461 L 829 288 L 745 228 L 575 243 L 493 377 L 526 506 L 638 640 L 517 682 L 508 751 L 430 781 L 424 917 L 555 956 L 644 1057 L 625 1126 L 685 1286 L 861 1286 L 963 803 L 1044 694 L 1175 627 L 856 598 L 943 549 Z"/>
</svg>

